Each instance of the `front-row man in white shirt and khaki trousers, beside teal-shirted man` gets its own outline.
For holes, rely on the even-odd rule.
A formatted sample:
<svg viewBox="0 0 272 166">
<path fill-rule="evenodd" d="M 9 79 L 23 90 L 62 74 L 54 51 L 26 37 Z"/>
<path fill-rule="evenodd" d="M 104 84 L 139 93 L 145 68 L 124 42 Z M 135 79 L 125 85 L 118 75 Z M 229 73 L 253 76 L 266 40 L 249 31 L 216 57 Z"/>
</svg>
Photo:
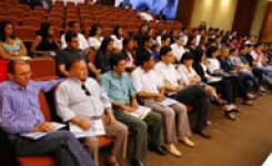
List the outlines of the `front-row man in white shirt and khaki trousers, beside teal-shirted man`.
<svg viewBox="0 0 272 166">
<path fill-rule="evenodd" d="M 182 103 L 162 103 L 168 101 L 164 96 L 164 87 L 160 76 L 153 70 L 154 60 L 151 53 L 138 55 L 140 64 L 132 72 L 132 82 L 138 96 L 143 100 L 144 105 L 160 113 L 164 120 L 165 148 L 174 156 L 181 156 L 174 142 L 180 141 L 185 145 L 193 147 L 194 143 L 190 141 L 191 129 L 187 115 L 187 107 Z M 177 121 L 175 121 L 177 120 Z"/>
</svg>

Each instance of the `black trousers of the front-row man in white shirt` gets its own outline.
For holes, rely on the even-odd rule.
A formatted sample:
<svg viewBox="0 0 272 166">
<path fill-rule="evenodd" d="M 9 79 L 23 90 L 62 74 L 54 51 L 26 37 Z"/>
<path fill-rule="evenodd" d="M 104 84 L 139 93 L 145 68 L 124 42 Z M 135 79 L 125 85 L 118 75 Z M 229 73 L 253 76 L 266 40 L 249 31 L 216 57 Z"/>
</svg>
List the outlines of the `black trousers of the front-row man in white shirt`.
<svg viewBox="0 0 272 166">
<path fill-rule="evenodd" d="M 210 100 L 203 86 L 192 85 L 170 97 L 192 106 L 193 111 L 198 113 L 197 123 L 193 126 L 194 132 L 201 132 L 205 128 Z"/>
</svg>

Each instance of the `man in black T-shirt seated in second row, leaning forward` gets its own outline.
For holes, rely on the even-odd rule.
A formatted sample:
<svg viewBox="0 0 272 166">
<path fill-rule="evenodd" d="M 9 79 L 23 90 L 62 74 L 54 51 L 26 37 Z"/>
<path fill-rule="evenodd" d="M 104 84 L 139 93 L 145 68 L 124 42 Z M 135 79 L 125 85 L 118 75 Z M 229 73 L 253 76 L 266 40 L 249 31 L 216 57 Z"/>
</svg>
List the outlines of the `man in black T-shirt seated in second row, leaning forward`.
<svg viewBox="0 0 272 166">
<path fill-rule="evenodd" d="M 75 32 L 69 31 L 66 33 L 67 48 L 58 53 L 56 56 L 58 74 L 68 77 L 70 73 L 67 71 L 66 66 L 74 61 L 75 59 L 81 59 L 88 63 L 88 69 L 94 74 L 97 79 L 100 76 L 100 72 L 95 66 L 89 62 L 87 54 L 79 49 L 79 38 Z"/>
</svg>

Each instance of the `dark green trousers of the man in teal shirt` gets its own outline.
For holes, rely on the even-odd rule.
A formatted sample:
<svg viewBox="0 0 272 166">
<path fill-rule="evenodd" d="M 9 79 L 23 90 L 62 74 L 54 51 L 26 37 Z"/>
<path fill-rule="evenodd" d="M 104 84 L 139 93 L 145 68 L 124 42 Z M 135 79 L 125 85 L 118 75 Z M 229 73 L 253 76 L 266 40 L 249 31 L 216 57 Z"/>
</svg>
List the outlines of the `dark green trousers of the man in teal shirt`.
<svg viewBox="0 0 272 166">
<path fill-rule="evenodd" d="M 150 112 L 142 121 L 114 108 L 118 121 L 124 123 L 132 134 L 131 159 L 144 160 L 149 147 L 159 147 L 162 144 L 162 117 L 160 114 Z M 149 145 L 148 145 L 149 143 Z"/>
</svg>

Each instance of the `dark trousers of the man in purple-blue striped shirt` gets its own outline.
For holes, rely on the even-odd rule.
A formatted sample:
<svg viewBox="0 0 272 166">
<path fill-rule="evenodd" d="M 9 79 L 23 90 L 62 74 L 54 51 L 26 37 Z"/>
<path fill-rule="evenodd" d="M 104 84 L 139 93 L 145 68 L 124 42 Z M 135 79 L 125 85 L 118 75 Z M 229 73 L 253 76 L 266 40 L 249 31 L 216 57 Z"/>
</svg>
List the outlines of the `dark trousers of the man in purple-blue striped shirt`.
<svg viewBox="0 0 272 166">
<path fill-rule="evenodd" d="M 19 156 L 53 155 L 58 166 L 92 166 L 80 142 L 68 131 L 53 132 L 38 141 L 12 136 Z"/>
</svg>

